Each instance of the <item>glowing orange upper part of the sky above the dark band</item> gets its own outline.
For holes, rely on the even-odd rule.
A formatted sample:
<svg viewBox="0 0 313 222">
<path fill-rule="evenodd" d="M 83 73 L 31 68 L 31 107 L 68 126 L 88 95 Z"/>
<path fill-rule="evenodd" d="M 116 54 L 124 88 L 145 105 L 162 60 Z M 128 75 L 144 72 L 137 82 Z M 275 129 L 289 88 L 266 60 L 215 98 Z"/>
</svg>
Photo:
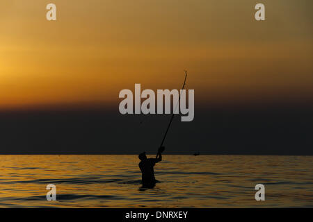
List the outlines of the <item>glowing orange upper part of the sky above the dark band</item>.
<svg viewBox="0 0 313 222">
<path fill-rule="evenodd" d="M 0 2 L 0 108 L 115 103 L 134 88 L 207 101 L 313 99 L 311 0 Z"/>
</svg>

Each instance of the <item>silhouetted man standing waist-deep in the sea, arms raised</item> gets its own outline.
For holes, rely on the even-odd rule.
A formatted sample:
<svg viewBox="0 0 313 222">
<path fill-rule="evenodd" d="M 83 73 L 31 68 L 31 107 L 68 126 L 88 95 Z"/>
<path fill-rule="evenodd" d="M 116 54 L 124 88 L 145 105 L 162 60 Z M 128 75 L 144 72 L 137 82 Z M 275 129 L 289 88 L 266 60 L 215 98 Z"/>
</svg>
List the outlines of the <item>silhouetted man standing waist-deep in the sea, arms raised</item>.
<svg viewBox="0 0 313 222">
<path fill-rule="evenodd" d="M 154 178 L 154 170 L 153 167 L 157 162 L 162 160 L 162 151 L 164 150 L 163 147 L 159 148 L 156 158 L 149 158 L 145 155 L 145 152 L 138 155 L 141 162 L 139 163 L 139 168 L 141 169 L 142 176 L 142 183 L 143 187 L 145 188 L 152 188 L 155 185 L 155 178 Z"/>
</svg>

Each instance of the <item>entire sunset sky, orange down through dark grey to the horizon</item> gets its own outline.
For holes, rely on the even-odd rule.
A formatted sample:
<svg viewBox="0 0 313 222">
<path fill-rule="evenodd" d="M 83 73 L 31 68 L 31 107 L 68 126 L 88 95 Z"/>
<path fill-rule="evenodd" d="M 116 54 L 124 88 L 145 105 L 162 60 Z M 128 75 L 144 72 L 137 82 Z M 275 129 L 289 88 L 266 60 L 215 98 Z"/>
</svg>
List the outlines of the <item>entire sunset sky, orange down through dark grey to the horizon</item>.
<svg viewBox="0 0 313 222">
<path fill-rule="evenodd" d="M 0 1 L 0 153 L 154 151 L 168 115 L 139 126 L 141 116 L 118 112 L 118 94 L 135 83 L 179 89 L 186 69 L 195 119 L 175 119 L 166 151 L 313 155 L 312 6 Z"/>
</svg>

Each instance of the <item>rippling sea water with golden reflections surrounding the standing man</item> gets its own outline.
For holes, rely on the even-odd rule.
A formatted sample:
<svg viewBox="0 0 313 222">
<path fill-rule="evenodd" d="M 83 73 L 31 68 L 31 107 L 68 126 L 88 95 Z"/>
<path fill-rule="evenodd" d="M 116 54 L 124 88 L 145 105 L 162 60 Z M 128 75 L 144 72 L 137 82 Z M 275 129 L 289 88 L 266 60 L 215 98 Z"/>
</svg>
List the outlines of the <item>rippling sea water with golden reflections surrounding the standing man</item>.
<svg viewBox="0 0 313 222">
<path fill-rule="evenodd" d="M 312 156 L 164 155 L 141 191 L 136 155 L 0 155 L 0 207 L 313 207 Z M 46 186 L 56 185 L 57 201 Z M 255 185 L 265 185 L 265 201 Z"/>
</svg>

